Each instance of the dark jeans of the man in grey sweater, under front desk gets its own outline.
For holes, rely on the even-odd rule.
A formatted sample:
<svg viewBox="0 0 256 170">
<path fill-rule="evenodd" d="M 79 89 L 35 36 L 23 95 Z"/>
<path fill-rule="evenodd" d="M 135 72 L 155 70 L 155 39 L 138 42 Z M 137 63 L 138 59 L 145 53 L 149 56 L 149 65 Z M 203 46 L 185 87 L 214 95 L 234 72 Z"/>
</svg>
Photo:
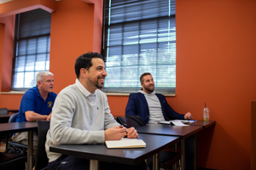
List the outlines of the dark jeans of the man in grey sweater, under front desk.
<svg viewBox="0 0 256 170">
<path fill-rule="evenodd" d="M 74 156 L 60 156 L 55 161 L 49 162 L 47 169 L 50 170 L 89 170 L 90 161 Z M 120 163 L 100 161 L 101 170 L 147 170 L 146 162 L 142 161 L 135 166 Z"/>
</svg>

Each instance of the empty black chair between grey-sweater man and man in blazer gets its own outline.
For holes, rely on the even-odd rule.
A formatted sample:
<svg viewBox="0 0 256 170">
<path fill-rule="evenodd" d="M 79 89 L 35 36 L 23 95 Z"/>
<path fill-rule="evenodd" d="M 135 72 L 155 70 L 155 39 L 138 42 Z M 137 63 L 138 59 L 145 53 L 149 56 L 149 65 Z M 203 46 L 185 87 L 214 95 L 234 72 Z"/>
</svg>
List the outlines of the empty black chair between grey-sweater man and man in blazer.
<svg viewBox="0 0 256 170">
<path fill-rule="evenodd" d="M 120 117 L 122 118 L 122 117 Z M 120 119 L 119 118 L 119 119 Z M 120 123 L 119 119 L 117 122 Z M 123 117 L 124 122 L 126 123 L 127 127 L 143 127 L 146 124 L 143 122 L 140 116 L 127 116 Z M 162 169 L 167 169 L 169 167 L 174 166 L 177 161 L 180 160 L 180 153 L 178 152 L 171 152 L 171 151 L 160 151 L 159 153 L 159 167 Z M 153 165 L 153 157 L 150 156 L 148 159 L 148 164 Z M 149 166 L 150 167 L 150 166 Z"/>
</svg>

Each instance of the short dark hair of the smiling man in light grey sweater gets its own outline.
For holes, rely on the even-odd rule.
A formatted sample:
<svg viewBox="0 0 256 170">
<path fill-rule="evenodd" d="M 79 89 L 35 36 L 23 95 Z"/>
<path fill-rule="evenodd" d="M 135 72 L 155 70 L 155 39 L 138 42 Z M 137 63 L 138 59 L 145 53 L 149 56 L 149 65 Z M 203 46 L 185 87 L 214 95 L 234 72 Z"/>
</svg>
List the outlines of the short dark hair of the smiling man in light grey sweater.
<svg viewBox="0 0 256 170">
<path fill-rule="evenodd" d="M 78 59 L 76 59 L 74 67 L 75 67 L 75 72 L 78 78 L 80 76 L 80 70 L 82 68 L 89 71 L 90 67 L 92 66 L 91 59 L 93 58 L 103 59 L 102 54 L 93 53 L 93 52 L 82 54 L 79 56 Z"/>
</svg>

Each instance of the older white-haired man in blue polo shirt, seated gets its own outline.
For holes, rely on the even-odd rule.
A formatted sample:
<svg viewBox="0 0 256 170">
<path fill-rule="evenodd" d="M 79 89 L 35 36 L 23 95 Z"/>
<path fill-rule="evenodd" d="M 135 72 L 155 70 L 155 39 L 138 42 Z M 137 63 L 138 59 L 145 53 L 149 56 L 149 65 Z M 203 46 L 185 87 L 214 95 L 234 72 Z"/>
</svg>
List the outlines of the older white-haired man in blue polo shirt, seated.
<svg viewBox="0 0 256 170">
<path fill-rule="evenodd" d="M 57 94 L 53 92 L 54 75 L 49 71 L 40 71 L 37 75 L 37 86 L 30 88 L 23 95 L 20 102 L 19 116 L 16 122 L 35 122 L 38 120 L 50 120 L 51 110 Z M 27 133 L 15 133 L 13 141 L 27 145 Z M 38 135 L 34 133 L 33 141 L 36 154 Z"/>
</svg>

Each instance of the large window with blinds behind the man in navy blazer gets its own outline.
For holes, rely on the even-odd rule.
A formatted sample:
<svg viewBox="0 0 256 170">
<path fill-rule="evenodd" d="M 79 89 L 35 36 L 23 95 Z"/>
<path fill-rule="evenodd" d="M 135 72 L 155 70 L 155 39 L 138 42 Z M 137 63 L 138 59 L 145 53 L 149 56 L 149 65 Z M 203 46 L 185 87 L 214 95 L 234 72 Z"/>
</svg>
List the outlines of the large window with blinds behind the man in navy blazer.
<svg viewBox="0 0 256 170">
<path fill-rule="evenodd" d="M 175 0 L 109 0 L 104 4 L 102 55 L 108 77 L 104 92 L 141 89 L 150 72 L 155 90 L 175 94 Z"/>
</svg>

